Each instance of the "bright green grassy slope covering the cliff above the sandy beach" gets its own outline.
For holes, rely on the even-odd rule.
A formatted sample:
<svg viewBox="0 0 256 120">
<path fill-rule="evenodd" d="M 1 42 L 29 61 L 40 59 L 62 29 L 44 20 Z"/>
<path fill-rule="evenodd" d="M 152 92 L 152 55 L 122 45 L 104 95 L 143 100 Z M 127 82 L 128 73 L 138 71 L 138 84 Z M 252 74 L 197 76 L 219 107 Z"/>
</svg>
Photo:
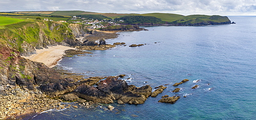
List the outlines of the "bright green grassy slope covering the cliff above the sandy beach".
<svg viewBox="0 0 256 120">
<path fill-rule="evenodd" d="M 51 31 L 50 27 L 53 26 L 54 28 Z M 68 23 L 29 19 L 0 27 L 0 40 L 6 40 L 13 48 L 23 51 L 24 48 L 22 47 L 22 44 L 24 42 L 27 42 L 32 46 L 37 46 L 41 35 L 45 36 L 41 38 L 61 42 L 65 37 L 72 38 L 73 34 L 70 33 L 72 32 L 68 27 Z"/>
</svg>

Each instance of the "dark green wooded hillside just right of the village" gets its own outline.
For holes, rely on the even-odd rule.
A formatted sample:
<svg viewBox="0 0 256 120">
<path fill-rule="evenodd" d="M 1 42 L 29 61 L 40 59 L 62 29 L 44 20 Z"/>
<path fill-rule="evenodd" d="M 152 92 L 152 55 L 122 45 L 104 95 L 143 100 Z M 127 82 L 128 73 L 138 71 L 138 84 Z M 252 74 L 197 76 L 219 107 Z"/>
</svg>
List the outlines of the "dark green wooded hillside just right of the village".
<svg viewBox="0 0 256 120">
<path fill-rule="evenodd" d="M 142 15 L 124 16 L 120 18 L 115 18 L 115 20 L 123 20 L 123 24 L 165 24 L 165 22 L 162 21 L 160 18 Z"/>
</svg>

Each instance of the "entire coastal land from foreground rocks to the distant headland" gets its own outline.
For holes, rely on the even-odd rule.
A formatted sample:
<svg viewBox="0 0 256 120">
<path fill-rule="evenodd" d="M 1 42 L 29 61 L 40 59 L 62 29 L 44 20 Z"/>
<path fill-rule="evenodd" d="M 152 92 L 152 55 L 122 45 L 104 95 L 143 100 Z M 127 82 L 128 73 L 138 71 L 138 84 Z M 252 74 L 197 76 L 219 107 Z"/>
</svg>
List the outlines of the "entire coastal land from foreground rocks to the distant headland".
<svg viewBox="0 0 256 120">
<path fill-rule="evenodd" d="M 81 50 L 114 47 L 106 44 L 105 39 L 116 38 L 118 31 L 145 30 L 137 25 L 231 23 L 223 16 L 162 13 L 23 11 L 1 12 L 0 17 L 0 119 L 13 119 L 24 113 L 52 108 L 77 108 L 61 104 L 63 100 L 78 101 L 88 107 L 93 103 L 113 103 L 113 100 L 119 104 L 143 104 L 153 93 L 157 96 L 166 87 L 160 86 L 156 92 L 152 92 L 149 85 L 128 85 L 119 79 L 124 75 L 83 78 L 51 67 L 56 65 L 63 54 L 84 55 L 88 52 Z M 95 84 L 97 87 L 92 86 Z M 168 97 L 165 102 L 175 103 L 179 98 Z"/>
</svg>

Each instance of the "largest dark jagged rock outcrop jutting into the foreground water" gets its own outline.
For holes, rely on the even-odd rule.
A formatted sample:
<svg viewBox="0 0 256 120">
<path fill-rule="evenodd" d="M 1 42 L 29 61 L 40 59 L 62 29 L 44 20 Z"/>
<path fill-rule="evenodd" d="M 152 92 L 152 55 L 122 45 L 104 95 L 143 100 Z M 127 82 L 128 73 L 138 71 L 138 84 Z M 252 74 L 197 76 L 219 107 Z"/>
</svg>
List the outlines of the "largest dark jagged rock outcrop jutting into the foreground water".
<svg viewBox="0 0 256 120">
<path fill-rule="evenodd" d="M 86 100 L 91 100 L 99 103 L 113 103 L 113 100 L 118 100 L 118 103 L 142 104 L 151 96 L 152 87 L 145 85 L 135 87 L 127 85 L 124 80 L 118 77 L 108 77 L 101 80 L 97 87 L 82 84 L 74 90 L 74 94 Z"/>
</svg>

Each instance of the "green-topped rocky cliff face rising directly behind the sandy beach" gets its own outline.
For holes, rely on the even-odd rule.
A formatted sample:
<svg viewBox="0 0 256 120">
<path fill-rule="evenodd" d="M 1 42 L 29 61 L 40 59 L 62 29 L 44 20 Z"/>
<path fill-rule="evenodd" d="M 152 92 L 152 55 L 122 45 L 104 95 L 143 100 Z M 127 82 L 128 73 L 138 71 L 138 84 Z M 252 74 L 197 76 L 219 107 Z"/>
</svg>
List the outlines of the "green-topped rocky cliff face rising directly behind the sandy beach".
<svg viewBox="0 0 256 120">
<path fill-rule="evenodd" d="M 7 41 L 21 55 L 28 56 L 35 53 L 35 49 L 47 48 L 49 45 L 76 46 L 79 42 L 74 41 L 75 37 L 83 36 L 87 32 L 88 29 L 80 24 L 24 21 L 0 29 L 0 39 Z"/>
</svg>

